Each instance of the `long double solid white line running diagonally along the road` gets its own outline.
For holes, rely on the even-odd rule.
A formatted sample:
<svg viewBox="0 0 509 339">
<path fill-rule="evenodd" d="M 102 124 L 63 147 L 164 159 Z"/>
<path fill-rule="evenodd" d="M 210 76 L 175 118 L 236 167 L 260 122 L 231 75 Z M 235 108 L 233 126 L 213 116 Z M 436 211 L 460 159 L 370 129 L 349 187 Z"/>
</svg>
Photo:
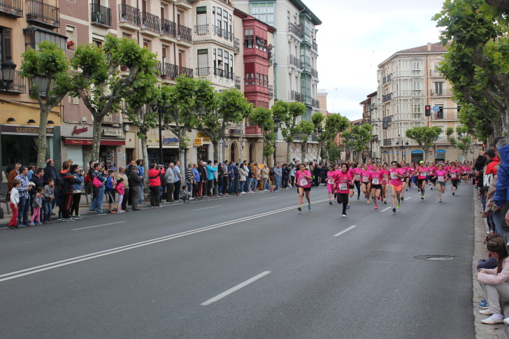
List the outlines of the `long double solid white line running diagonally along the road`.
<svg viewBox="0 0 509 339">
<path fill-rule="evenodd" d="M 322 200 L 314 201 L 313 203 L 322 203 L 324 201 L 327 201 L 327 199 L 322 199 Z M 291 206 L 291 207 L 287 207 L 287 208 L 280 208 L 278 210 L 272 210 L 270 212 L 264 212 L 264 213 L 260 213 L 258 215 L 251 215 L 249 217 L 244 217 L 244 218 L 241 218 L 241 219 L 231 220 L 229 222 L 222 222 L 220 224 L 214 224 L 214 225 L 210 225 L 210 226 L 205 226 L 205 227 L 202 227 L 201 229 L 192 229 L 190 231 L 185 231 L 185 232 L 182 232 L 182 233 L 175 233 L 175 234 L 172 234 L 170 236 L 163 236 L 163 237 L 160 237 L 160 238 L 154 238 L 154 239 L 150 239 L 150 240 L 145 240 L 145 241 L 141 241 L 139 243 L 132 243 L 130 245 L 124 245 L 124 246 L 120 246 L 120 247 L 110 248 L 109 250 L 103 250 L 103 251 L 100 251 L 100 252 L 94 252 L 94 253 L 90 253 L 90 254 L 85 254 L 85 255 L 82 255 L 80 257 L 73 257 L 73 258 L 69 258 L 69 259 L 55 261 L 55 262 L 52 262 L 50 264 L 44 264 L 44 265 L 35 266 L 35 267 L 31 267 L 31 268 L 25 268 L 25 269 L 20 270 L 20 271 L 5 273 L 5 274 L 0 275 L 0 277 L 2 278 L 2 279 L 0 279 L 0 282 L 6 281 L 6 280 L 15 279 L 17 277 L 23 277 L 24 275 L 31 275 L 31 274 L 38 273 L 38 272 L 48 271 L 48 270 L 51 270 L 53 268 L 58 268 L 58 267 L 66 266 L 66 265 L 76 264 L 76 263 L 81 262 L 81 261 L 87 261 L 87 260 L 90 260 L 90 259 L 104 257 L 106 255 L 115 254 L 115 253 L 118 253 L 118 252 L 124 252 L 124 251 L 127 251 L 127 250 L 134 250 L 135 248 L 138 248 L 138 247 L 143 247 L 143 246 L 147 246 L 147 245 L 153 245 L 153 244 L 156 244 L 156 243 L 162 243 L 163 241 L 173 240 L 173 239 L 181 238 L 181 237 L 184 237 L 184 236 L 190 236 L 190 235 L 195 234 L 195 233 L 201 233 L 201 232 L 205 232 L 205 231 L 210 231 L 212 229 L 218 229 L 220 227 L 229 226 L 231 224 L 238 224 L 240 222 L 245 222 L 245 221 L 248 221 L 248 220 L 257 219 L 257 218 L 260 218 L 260 217 L 266 217 L 268 215 L 273 215 L 275 213 L 285 212 L 287 210 L 293 210 L 295 207 L 296 206 Z"/>
</svg>

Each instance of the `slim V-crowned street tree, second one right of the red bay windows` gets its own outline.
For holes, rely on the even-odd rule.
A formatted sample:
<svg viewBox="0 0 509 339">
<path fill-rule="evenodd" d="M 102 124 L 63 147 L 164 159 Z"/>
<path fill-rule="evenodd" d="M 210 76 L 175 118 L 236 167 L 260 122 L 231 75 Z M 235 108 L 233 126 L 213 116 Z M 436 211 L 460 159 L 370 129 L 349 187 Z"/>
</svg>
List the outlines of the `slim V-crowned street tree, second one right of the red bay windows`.
<svg viewBox="0 0 509 339">
<path fill-rule="evenodd" d="M 303 103 L 276 101 L 272 106 L 274 119 L 281 122 L 282 139 L 287 143 L 287 162 L 290 161 L 290 145 L 294 142 L 294 136 L 299 132 L 297 118 L 306 114 L 306 106 Z"/>
</svg>

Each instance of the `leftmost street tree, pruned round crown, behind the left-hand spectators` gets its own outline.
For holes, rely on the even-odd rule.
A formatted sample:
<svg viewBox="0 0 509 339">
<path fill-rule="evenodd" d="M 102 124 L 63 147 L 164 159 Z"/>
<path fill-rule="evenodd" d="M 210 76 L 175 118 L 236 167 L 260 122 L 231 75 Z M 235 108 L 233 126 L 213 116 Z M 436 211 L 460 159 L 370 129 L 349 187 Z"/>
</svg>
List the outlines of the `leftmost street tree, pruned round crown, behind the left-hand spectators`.
<svg viewBox="0 0 509 339">
<path fill-rule="evenodd" d="M 46 129 L 50 110 L 57 106 L 71 89 L 69 62 L 64 50 L 56 43 L 43 41 L 38 43 L 38 50 L 29 48 L 22 54 L 21 76 L 27 77 L 31 87 L 30 96 L 37 99 L 39 114 L 39 137 L 37 142 L 37 167 L 44 167 L 48 143 Z M 37 80 L 43 77 L 45 88 Z M 43 86 L 44 86 L 43 85 Z"/>
</svg>

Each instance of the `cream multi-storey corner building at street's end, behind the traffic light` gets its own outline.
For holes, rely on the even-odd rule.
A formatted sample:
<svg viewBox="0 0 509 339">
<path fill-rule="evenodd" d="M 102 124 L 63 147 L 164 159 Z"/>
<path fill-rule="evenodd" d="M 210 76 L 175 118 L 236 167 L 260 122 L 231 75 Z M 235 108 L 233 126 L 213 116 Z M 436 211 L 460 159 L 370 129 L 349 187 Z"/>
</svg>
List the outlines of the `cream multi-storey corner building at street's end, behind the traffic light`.
<svg viewBox="0 0 509 339">
<path fill-rule="evenodd" d="M 448 127 L 459 126 L 461 107 L 452 101 L 451 86 L 438 72 L 445 48 L 440 43 L 401 50 L 378 65 L 378 91 L 361 102 L 363 119 L 373 124 L 371 157 L 382 162 L 392 160 L 419 162 L 424 152 L 406 138 L 413 127 L 437 126 L 443 130 L 430 150 L 429 161 L 471 161 L 482 145 L 473 140 L 466 157 L 450 145 L 445 134 Z M 431 106 L 426 117 L 424 106 Z"/>
</svg>

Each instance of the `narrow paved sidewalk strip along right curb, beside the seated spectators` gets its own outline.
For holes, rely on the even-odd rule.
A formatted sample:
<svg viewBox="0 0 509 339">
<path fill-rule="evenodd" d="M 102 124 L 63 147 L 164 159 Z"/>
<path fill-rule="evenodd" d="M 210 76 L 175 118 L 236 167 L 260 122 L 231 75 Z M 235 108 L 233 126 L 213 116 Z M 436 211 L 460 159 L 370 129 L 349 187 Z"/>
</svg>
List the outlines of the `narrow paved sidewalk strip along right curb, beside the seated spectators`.
<svg viewBox="0 0 509 339">
<path fill-rule="evenodd" d="M 478 196 L 478 191 L 473 192 L 473 213 L 474 213 L 474 249 L 472 257 L 472 285 L 473 285 L 473 317 L 474 317 L 474 328 L 475 338 L 477 339 L 505 339 L 506 333 L 504 332 L 505 325 L 485 325 L 482 324 L 481 320 L 486 319 L 487 315 L 481 315 L 478 307 L 480 299 L 484 299 L 485 295 L 482 292 L 480 284 L 475 279 L 475 273 L 477 273 L 477 263 L 479 259 L 486 259 L 488 257 L 485 235 L 488 232 L 487 224 L 485 219 L 482 217 L 482 205 Z M 508 315 L 505 315 L 508 317 Z"/>
</svg>

